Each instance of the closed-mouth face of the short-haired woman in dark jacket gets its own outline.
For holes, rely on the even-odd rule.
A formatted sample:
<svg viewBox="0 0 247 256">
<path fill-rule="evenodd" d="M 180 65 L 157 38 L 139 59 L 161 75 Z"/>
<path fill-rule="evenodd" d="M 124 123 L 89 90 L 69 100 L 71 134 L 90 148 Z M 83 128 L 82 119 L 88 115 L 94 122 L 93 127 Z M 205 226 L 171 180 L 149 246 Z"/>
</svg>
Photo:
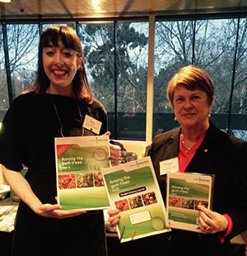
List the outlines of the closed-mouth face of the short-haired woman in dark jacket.
<svg viewBox="0 0 247 256">
<path fill-rule="evenodd" d="M 175 88 L 173 107 L 182 129 L 201 129 L 209 126 L 208 114 L 211 111 L 211 104 L 203 90 L 189 90 L 178 85 Z"/>
</svg>

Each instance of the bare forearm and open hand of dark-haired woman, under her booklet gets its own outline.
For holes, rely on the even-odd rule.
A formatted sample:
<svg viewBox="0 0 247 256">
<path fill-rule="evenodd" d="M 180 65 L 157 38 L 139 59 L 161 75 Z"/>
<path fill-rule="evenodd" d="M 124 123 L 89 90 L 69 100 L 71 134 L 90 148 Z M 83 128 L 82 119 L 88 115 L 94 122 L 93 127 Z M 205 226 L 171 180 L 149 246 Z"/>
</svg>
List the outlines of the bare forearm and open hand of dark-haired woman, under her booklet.
<svg viewBox="0 0 247 256">
<path fill-rule="evenodd" d="M 21 175 L 21 173 L 2 166 L 2 174 L 9 186 L 12 187 L 13 192 L 15 192 L 16 195 L 20 197 L 21 201 L 24 201 L 32 211 L 35 211 L 37 215 L 63 219 L 78 216 L 86 212 L 82 210 L 63 211 L 62 207 L 58 204 L 43 204 L 40 199 L 35 196 L 30 184 L 26 181 L 26 178 Z"/>
</svg>

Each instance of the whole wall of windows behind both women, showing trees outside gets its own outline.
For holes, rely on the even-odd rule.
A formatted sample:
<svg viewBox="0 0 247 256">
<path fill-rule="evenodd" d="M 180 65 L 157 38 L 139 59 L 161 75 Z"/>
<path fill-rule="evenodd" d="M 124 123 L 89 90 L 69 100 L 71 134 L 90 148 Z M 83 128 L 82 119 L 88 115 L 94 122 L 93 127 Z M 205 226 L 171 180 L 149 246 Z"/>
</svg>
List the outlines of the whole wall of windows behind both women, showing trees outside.
<svg viewBox="0 0 247 256">
<path fill-rule="evenodd" d="M 58 24 L 55 24 L 58 25 Z M 113 139 L 145 140 L 147 116 L 147 21 L 63 22 L 82 40 L 93 97 L 105 106 Z M 42 24 L 42 30 L 53 24 Z M 247 140 L 247 19 L 161 20 L 155 25 L 152 136 L 179 126 L 166 97 L 180 68 L 205 69 L 215 84 L 211 120 Z M 35 82 L 39 25 L 0 28 L 0 121 L 9 101 Z M 6 47 L 4 47 L 4 45 Z M 6 59 L 5 57 L 9 57 Z M 7 71 L 6 71 L 7 67 Z"/>
</svg>

